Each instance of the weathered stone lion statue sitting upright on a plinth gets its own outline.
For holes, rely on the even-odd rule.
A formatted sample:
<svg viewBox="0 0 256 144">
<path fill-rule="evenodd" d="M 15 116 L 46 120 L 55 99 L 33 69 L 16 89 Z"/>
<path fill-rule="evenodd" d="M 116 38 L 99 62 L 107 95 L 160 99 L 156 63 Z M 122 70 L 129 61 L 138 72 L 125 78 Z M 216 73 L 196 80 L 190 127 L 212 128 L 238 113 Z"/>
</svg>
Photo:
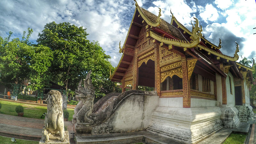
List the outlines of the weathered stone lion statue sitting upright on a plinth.
<svg viewBox="0 0 256 144">
<path fill-rule="evenodd" d="M 64 120 L 62 110 L 62 95 L 59 91 L 51 90 L 45 100 L 47 102 L 47 113 L 44 118 L 43 141 L 49 141 L 50 134 L 60 134 L 60 140 L 64 141 Z"/>
</svg>

